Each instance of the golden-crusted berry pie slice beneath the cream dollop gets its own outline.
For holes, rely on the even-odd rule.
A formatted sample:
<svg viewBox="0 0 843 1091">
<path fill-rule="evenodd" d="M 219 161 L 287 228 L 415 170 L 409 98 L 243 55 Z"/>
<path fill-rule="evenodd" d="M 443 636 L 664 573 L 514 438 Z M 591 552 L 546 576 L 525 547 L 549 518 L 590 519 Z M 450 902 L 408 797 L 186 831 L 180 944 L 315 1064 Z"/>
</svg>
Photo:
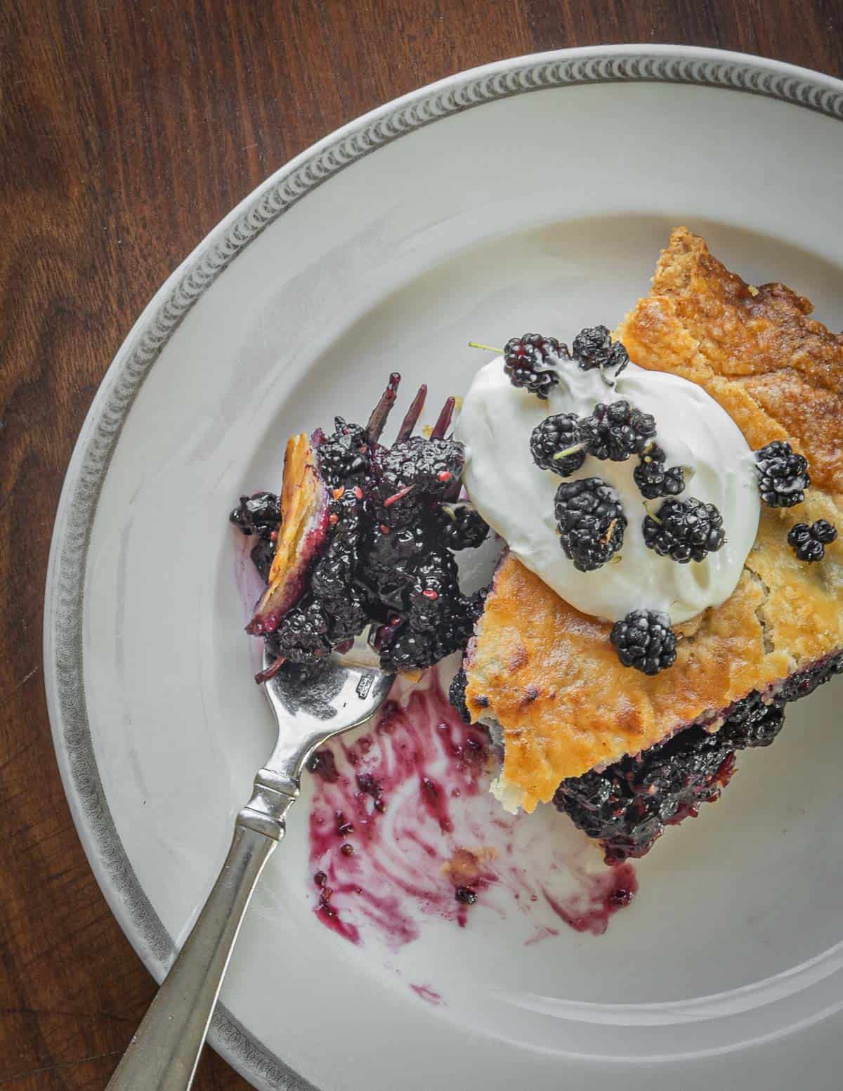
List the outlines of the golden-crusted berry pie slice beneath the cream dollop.
<svg viewBox="0 0 843 1091">
<path fill-rule="evenodd" d="M 610 861 L 642 855 L 716 799 L 735 752 L 770 743 L 785 704 L 843 670 L 843 538 L 821 564 L 787 543 L 798 523 L 843 523 L 843 336 L 810 311 L 781 284 L 746 284 L 677 228 L 615 332 L 640 367 L 702 386 L 752 449 L 786 441 L 810 466 L 803 503 L 762 505 L 732 596 L 676 626 L 670 670 L 622 666 L 610 623 L 511 555 L 469 645 L 466 707 L 499 729 L 502 798 L 527 811 L 553 800 Z"/>
</svg>

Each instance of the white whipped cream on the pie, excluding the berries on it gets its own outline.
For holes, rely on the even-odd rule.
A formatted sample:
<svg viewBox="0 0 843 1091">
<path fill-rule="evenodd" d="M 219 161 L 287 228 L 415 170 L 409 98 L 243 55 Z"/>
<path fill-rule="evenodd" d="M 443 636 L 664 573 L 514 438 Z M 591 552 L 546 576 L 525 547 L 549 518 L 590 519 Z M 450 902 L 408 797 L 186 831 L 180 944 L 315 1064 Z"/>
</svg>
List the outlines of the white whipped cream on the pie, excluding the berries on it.
<svg viewBox="0 0 843 1091">
<path fill-rule="evenodd" d="M 455 436 L 466 446 L 463 482 L 480 514 L 522 564 L 582 613 L 618 621 L 630 610 L 662 610 L 678 624 L 724 602 L 740 578 L 760 514 L 755 458 L 735 422 L 700 386 L 667 372 L 630 363 L 612 379 L 562 360 L 558 373 L 546 401 L 513 386 L 503 357 L 474 376 Z M 678 564 L 645 544 L 647 509 L 633 478 L 637 455 L 623 463 L 589 455 L 564 479 L 533 461 L 530 435 L 545 417 L 586 417 L 598 403 L 619 398 L 652 413 L 665 465 L 685 467 L 685 491 L 676 499 L 696 496 L 723 516 L 726 540 L 704 560 Z M 553 502 L 562 480 L 589 477 L 617 491 L 627 527 L 612 561 L 595 572 L 578 572 L 559 543 Z M 658 514 L 663 502 L 647 504 Z"/>
</svg>

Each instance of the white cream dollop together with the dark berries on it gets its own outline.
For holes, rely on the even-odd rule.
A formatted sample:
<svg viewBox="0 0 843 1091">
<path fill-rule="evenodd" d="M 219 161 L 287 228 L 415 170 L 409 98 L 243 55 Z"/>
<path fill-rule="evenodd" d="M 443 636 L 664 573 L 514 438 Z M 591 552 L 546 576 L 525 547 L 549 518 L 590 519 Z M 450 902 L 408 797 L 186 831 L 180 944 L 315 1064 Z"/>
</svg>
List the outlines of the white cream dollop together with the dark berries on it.
<svg viewBox="0 0 843 1091">
<path fill-rule="evenodd" d="M 704 391 L 637 367 L 605 326 L 570 349 L 511 338 L 456 436 L 477 509 L 562 598 L 614 623 L 625 666 L 670 667 L 673 626 L 737 585 L 760 512 L 752 452 Z"/>
</svg>

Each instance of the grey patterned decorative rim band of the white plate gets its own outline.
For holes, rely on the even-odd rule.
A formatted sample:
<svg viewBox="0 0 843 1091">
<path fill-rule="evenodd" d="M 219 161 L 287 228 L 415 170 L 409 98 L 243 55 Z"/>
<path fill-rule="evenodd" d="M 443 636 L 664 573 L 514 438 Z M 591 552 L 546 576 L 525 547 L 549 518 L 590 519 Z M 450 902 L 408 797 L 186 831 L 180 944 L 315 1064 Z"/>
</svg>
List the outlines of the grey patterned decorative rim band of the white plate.
<svg viewBox="0 0 843 1091">
<path fill-rule="evenodd" d="M 91 527 L 123 421 L 169 338 L 249 243 L 324 181 L 437 120 L 518 94 L 603 83 L 681 83 L 761 95 L 843 121 L 843 81 L 749 53 L 630 44 L 528 53 L 467 69 L 371 110 L 278 168 L 165 280 L 107 369 L 64 477 L 47 565 L 44 673 L 53 747 L 76 832 L 111 912 L 156 981 L 176 945 L 144 894 L 111 818 L 87 721 L 82 625 Z M 258 1091 L 313 1084 L 224 1006 L 208 1042 Z"/>
</svg>

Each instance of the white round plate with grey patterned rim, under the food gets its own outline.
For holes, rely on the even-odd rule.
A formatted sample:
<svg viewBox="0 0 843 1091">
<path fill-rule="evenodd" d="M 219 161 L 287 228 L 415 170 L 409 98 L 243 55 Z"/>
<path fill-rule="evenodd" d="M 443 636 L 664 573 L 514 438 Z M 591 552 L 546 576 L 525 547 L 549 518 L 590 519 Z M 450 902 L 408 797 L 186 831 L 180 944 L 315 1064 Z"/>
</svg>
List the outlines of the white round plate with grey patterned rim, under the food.
<svg viewBox="0 0 843 1091">
<path fill-rule="evenodd" d="M 675 224 L 840 327 L 841 119 L 842 84 L 755 58 L 503 61 L 304 153 L 161 288 L 80 436 L 46 622 L 74 818 L 157 978 L 272 736 L 232 499 L 277 485 L 288 433 L 362 416 L 395 368 L 436 405 L 481 362 L 470 337 L 613 325 Z M 840 695 L 796 706 L 770 752 L 742 758 L 723 802 L 641 863 L 636 902 L 600 938 L 563 930 L 526 948 L 517 915 L 475 907 L 465 931 L 432 921 L 396 954 L 354 947 L 313 914 L 300 804 L 214 1044 L 258 1088 L 304 1087 L 294 1072 L 324 1091 L 838 1088 Z"/>
</svg>

